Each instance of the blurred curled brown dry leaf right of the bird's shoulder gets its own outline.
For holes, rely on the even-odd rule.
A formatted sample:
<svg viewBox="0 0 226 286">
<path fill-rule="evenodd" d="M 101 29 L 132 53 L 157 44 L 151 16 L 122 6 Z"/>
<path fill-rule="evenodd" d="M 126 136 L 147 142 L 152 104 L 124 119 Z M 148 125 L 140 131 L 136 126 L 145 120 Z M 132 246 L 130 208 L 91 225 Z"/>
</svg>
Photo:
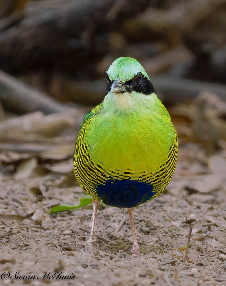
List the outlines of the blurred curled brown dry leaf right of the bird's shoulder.
<svg viewBox="0 0 226 286">
<path fill-rule="evenodd" d="M 226 103 L 215 94 L 201 92 L 191 104 L 177 104 L 171 113 L 178 135 L 199 143 L 208 154 L 216 150 L 219 139 L 226 139 Z M 192 132 L 185 120 L 175 120 L 175 116 L 191 120 Z"/>
</svg>

